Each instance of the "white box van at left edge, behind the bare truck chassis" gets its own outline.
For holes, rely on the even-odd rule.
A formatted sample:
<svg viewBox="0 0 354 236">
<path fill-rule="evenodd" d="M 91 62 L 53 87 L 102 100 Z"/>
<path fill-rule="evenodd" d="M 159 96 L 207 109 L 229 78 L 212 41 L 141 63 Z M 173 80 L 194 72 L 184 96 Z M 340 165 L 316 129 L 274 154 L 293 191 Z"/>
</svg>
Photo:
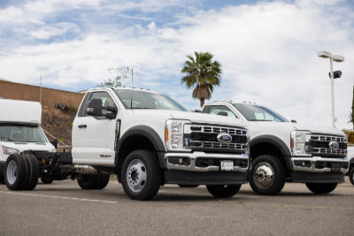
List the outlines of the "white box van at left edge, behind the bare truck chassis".
<svg viewBox="0 0 354 236">
<path fill-rule="evenodd" d="M 55 152 L 42 131 L 41 103 L 0 99 L 0 183 L 8 156 L 27 150 Z M 58 141 L 53 142 L 58 146 Z"/>
</svg>

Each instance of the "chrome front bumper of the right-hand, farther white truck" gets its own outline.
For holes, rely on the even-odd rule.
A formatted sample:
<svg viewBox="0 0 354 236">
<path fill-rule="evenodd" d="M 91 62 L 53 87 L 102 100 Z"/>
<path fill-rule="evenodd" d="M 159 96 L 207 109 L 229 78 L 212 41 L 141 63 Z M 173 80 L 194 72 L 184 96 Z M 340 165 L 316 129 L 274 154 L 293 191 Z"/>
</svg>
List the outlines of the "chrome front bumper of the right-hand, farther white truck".
<svg viewBox="0 0 354 236">
<path fill-rule="evenodd" d="M 307 172 L 342 172 L 347 173 L 349 171 L 349 161 L 347 158 L 328 158 L 321 156 L 313 157 L 291 157 L 291 164 L 293 171 L 307 171 Z M 303 164 L 303 166 L 299 166 Z M 332 170 L 328 165 L 341 164 L 340 170 Z M 346 168 L 343 168 L 343 164 L 346 164 Z M 339 167 L 338 167 L 339 168 Z"/>
</svg>

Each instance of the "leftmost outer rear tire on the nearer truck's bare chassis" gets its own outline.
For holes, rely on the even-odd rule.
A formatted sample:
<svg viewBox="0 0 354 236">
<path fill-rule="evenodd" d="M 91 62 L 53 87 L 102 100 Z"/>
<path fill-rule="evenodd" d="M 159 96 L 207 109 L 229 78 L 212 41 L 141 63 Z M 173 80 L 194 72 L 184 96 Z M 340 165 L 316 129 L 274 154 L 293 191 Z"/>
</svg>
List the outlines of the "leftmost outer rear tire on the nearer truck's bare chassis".
<svg viewBox="0 0 354 236">
<path fill-rule="evenodd" d="M 12 175 L 13 164 L 16 165 L 16 171 Z M 19 154 L 10 155 L 6 160 L 4 173 L 7 188 L 10 190 L 23 190 L 28 179 L 28 167 L 25 157 Z M 8 173 L 11 179 L 8 179 Z"/>
</svg>

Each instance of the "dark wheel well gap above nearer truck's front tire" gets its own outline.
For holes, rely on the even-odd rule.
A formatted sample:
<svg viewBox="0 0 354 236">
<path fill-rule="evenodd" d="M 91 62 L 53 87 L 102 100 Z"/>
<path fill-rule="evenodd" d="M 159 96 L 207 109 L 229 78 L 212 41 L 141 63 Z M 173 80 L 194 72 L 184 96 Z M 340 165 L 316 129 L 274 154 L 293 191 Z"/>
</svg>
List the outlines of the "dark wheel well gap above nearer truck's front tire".
<svg viewBox="0 0 354 236">
<path fill-rule="evenodd" d="M 126 159 L 126 157 L 129 155 L 129 153 L 135 150 L 147 150 L 150 151 L 155 156 L 157 156 L 154 145 L 147 137 L 143 135 L 135 134 L 127 137 L 127 139 L 123 141 L 120 147 L 124 147 L 124 148 L 119 149 L 119 153 L 118 153 L 119 167 L 123 166 L 123 162 Z"/>
</svg>

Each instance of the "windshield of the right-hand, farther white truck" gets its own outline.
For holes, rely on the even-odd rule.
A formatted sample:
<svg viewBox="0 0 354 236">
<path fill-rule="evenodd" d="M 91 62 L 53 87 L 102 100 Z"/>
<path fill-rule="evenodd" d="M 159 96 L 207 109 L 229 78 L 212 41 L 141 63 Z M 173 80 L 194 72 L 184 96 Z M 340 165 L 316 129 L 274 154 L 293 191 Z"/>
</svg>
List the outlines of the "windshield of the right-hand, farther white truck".
<svg viewBox="0 0 354 236">
<path fill-rule="evenodd" d="M 239 110 L 242 115 L 250 121 L 279 121 L 279 122 L 289 122 L 286 118 L 281 117 L 278 113 L 269 108 L 249 105 L 242 103 L 233 104 L 237 110 Z"/>
</svg>

